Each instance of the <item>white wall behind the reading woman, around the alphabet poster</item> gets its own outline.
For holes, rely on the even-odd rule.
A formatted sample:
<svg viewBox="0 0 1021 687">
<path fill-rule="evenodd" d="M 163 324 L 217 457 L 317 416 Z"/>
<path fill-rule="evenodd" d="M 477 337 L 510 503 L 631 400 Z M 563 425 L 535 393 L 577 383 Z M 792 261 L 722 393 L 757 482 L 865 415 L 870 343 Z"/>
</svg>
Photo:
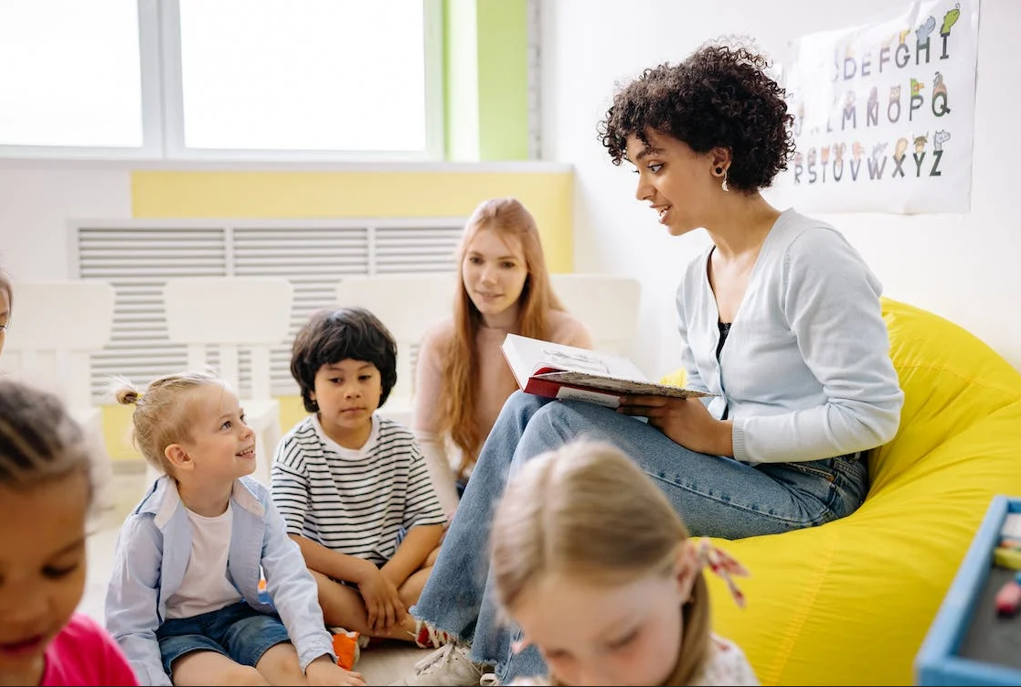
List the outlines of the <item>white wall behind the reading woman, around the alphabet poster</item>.
<svg viewBox="0 0 1021 687">
<path fill-rule="evenodd" d="M 679 364 L 673 293 L 680 266 L 708 244 L 706 232 L 666 234 L 634 198 L 630 167 L 615 168 L 596 136 L 617 84 L 703 41 L 747 35 L 776 58 L 790 40 L 895 11 L 888 0 L 555 0 L 542 6 L 543 157 L 574 163 L 575 269 L 633 275 L 643 287 L 645 332 L 635 361 L 659 376 Z M 904 5 L 907 6 L 907 3 Z M 840 229 L 890 297 L 966 327 L 1021 368 L 1021 157 L 1015 86 L 1021 2 L 982 0 L 975 97 L 971 212 L 966 215 L 821 216 Z M 783 190 L 768 195 L 786 208 Z"/>
</svg>

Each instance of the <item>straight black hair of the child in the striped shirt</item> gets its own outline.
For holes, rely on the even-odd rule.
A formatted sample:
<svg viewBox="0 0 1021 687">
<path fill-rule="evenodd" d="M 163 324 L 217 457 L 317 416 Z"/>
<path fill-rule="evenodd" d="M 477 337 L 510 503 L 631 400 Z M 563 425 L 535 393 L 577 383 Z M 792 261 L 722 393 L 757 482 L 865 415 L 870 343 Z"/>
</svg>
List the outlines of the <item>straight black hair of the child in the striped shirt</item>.
<svg viewBox="0 0 1021 687">
<path fill-rule="evenodd" d="M 382 377 L 381 406 L 397 383 L 397 341 L 378 317 L 364 308 L 318 311 L 295 335 L 291 348 L 291 376 L 301 387 L 301 401 L 309 413 L 319 410 L 311 399 L 315 374 L 324 365 L 342 360 L 376 366 Z"/>
</svg>

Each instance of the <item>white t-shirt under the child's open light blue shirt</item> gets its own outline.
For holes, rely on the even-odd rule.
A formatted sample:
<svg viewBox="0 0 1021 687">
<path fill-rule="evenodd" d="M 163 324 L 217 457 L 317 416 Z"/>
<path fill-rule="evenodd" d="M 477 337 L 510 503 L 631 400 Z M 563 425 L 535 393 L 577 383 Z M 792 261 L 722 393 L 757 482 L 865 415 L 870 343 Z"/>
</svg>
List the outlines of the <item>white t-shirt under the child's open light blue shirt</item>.
<svg viewBox="0 0 1021 687">
<path fill-rule="evenodd" d="M 242 598 L 227 570 L 234 526 L 231 506 L 215 517 L 205 517 L 187 508 L 185 512 L 191 522 L 192 549 L 181 587 L 166 600 L 167 620 L 220 610 Z"/>
</svg>

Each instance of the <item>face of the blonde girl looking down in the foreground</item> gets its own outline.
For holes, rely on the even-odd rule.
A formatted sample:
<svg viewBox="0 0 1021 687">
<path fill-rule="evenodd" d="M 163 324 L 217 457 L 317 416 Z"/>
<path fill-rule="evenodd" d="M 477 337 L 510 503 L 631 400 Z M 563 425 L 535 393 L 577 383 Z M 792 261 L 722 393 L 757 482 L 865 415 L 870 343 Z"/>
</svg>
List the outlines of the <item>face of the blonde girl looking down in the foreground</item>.
<svg viewBox="0 0 1021 687">
<path fill-rule="evenodd" d="M 566 685 L 662 685 L 684 632 L 690 566 L 625 584 L 550 574 L 510 609 L 550 672 Z"/>
</svg>

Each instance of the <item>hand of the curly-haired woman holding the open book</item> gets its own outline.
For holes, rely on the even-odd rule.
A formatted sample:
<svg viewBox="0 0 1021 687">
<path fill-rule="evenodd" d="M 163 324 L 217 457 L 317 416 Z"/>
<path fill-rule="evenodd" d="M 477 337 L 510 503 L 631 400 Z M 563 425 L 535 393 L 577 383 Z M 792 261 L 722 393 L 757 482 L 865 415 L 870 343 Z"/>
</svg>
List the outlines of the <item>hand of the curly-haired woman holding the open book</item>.
<svg viewBox="0 0 1021 687">
<path fill-rule="evenodd" d="M 625 396 L 617 412 L 647 417 L 674 443 L 712 456 L 734 455 L 733 422 L 718 420 L 698 399 Z"/>
</svg>

